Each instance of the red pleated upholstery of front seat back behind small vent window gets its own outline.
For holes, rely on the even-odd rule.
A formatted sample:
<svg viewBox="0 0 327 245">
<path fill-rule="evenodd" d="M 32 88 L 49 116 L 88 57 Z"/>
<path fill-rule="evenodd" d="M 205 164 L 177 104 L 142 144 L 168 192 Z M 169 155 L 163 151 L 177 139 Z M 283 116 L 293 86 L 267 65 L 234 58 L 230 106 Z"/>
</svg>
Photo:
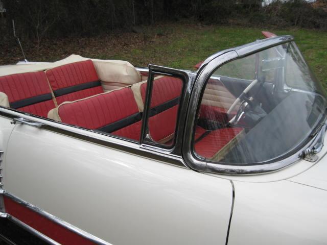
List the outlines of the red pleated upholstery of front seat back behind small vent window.
<svg viewBox="0 0 327 245">
<path fill-rule="evenodd" d="M 180 96 L 183 82 L 178 78 L 162 77 L 153 81 L 151 106 L 154 108 Z M 142 100 L 145 102 L 147 84 L 141 85 Z M 165 139 L 175 132 L 178 106 L 175 105 L 149 118 L 149 132 L 155 141 Z"/>
</svg>

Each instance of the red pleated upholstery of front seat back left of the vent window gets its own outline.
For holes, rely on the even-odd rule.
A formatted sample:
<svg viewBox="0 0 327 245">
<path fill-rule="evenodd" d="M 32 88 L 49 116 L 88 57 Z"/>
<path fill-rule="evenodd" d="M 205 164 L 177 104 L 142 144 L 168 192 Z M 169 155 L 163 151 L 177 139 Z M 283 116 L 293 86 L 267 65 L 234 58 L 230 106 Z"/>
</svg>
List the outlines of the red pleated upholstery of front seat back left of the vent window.
<svg viewBox="0 0 327 245">
<path fill-rule="evenodd" d="M 138 113 L 138 108 L 130 88 L 62 104 L 58 108 L 62 122 L 87 129 L 99 129 L 135 113 Z M 139 140 L 141 125 L 142 122 L 138 121 L 112 134 Z"/>
</svg>

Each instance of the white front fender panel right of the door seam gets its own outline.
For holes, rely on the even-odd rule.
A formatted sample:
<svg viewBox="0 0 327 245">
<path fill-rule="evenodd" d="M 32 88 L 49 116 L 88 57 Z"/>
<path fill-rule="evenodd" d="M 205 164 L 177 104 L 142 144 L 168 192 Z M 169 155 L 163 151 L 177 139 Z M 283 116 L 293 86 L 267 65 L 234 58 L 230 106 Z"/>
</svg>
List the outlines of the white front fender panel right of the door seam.
<svg viewBox="0 0 327 245">
<path fill-rule="evenodd" d="M 228 245 L 327 244 L 326 191 L 286 180 L 233 183 Z"/>
</svg>

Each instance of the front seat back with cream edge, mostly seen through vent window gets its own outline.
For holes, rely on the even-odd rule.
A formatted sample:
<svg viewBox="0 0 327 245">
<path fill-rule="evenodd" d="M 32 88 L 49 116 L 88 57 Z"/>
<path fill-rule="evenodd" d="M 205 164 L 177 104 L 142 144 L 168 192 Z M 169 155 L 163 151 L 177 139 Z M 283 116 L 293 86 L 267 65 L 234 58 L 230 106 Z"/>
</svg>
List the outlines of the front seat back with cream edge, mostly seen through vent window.
<svg viewBox="0 0 327 245">
<path fill-rule="evenodd" d="M 175 133 L 182 80 L 174 77 L 157 77 L 153 81 L 149 111 L 149 133 L 159 143 L 169 142 Z M 132 90 L 140 111 L 143 111 L 147 83 L 135 84 Z"/>
</svg>

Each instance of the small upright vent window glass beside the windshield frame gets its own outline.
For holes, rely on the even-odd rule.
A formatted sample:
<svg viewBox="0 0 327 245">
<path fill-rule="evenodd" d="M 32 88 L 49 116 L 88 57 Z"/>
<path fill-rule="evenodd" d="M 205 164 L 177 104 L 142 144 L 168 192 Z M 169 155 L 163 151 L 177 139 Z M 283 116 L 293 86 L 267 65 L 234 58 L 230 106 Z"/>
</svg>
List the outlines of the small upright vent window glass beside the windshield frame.
<svg viewBox="0 0 327 245">
<path fill-rule="evenodd" d="M 175 141 L 183 80 L 156 72 L 152 72 L 150 80 L 149 91 L 147 86 L 141 86 L 140 90 L 143 102 L 146 101 L 147 92 L 149 96 L 149 106 L 145 111 L 147 113 L 145 142 L 169 147 Z"/>
</svg>

